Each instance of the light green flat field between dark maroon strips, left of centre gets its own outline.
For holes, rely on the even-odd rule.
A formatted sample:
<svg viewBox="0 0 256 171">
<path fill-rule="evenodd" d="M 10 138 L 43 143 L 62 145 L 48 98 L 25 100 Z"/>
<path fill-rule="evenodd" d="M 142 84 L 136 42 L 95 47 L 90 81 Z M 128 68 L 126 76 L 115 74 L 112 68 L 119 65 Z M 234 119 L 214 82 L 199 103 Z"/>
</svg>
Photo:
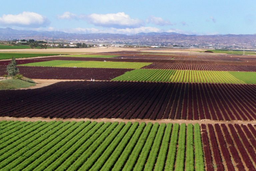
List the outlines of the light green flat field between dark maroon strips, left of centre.
<svg viewBox="0 0 256 171">
<path fill-rule="evenodd" d="M 101 62 L 101 61 L 74 61 L 52 60 L 22 64 L 20 66 L 53 66 L 53 67 L 81 67 L 81 68 L 127 68 L 138 69 L 150 65 L 149 62 Z"/>
</svg>

